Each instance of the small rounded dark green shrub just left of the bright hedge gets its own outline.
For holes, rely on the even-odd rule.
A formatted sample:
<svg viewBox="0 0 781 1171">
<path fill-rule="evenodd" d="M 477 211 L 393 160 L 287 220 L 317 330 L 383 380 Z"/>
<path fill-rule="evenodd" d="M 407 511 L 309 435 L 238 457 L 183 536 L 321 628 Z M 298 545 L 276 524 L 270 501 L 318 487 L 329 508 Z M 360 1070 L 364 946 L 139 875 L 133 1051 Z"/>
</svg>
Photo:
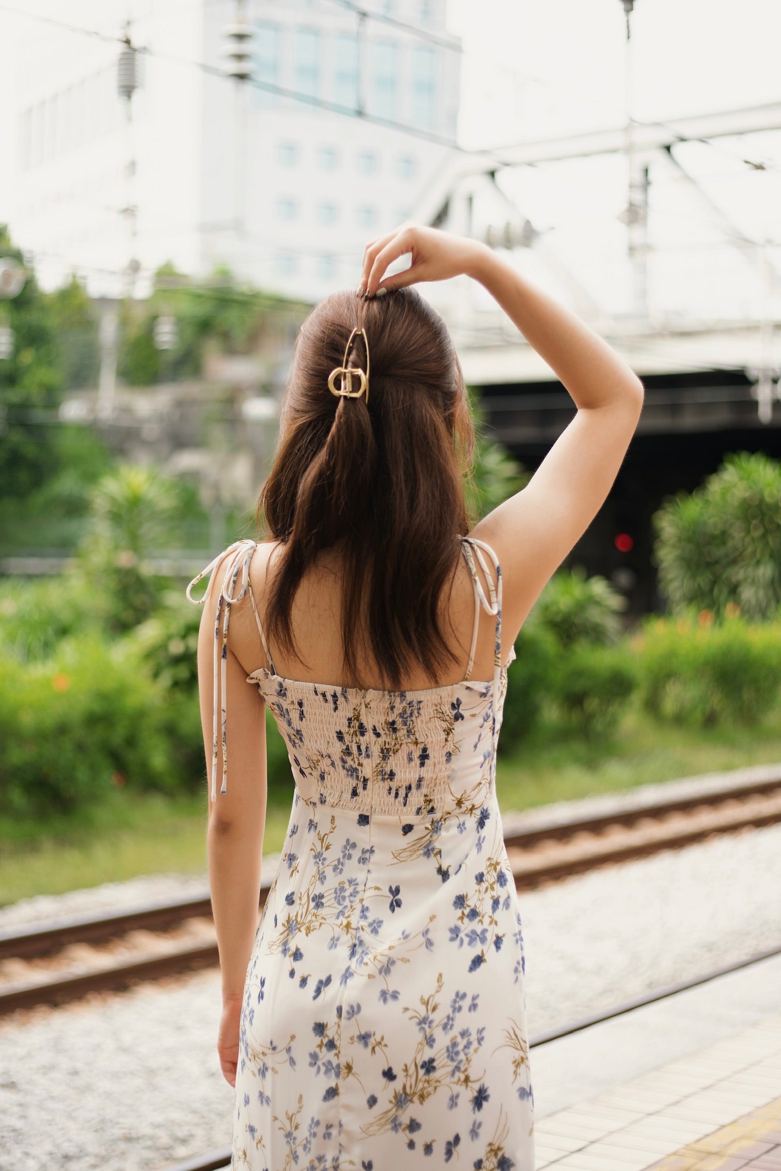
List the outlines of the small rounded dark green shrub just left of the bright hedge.
<svg viewBox="0 0 781 1171">
<path fill-rule="evenodd" d="M 623 646 L 582 641 L 559 655 L 554 701 L 564 724 L 587 738 L 612 731 L 636 687 L 636 664 Z"/>
</svg>

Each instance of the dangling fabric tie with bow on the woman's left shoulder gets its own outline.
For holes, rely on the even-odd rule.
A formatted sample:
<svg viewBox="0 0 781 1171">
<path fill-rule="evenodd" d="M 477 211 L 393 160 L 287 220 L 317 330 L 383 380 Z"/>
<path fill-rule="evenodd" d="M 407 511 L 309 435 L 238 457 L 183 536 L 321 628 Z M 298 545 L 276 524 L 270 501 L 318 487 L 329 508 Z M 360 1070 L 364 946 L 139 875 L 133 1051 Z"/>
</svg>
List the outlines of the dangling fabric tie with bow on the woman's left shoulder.
<svg viewBox="0 0 781 1171">
<path fill-rule="evenodd" d="M 249 562 L 252 561 L 253 554 L 258 548 L 256 542 L 252 540 L 235 541 L 228 549 L 220 553 L 212 562 L 210 562 L 205 569 L 198 574 L 197 577 L 187 586 L 186 596 L 187 601 L 192 602 L 193 605 L 203 605 L 206 601 L 206 594 L 208 594 L 208 587 L 206 588 L 206 594 L 201 598 L 192 597 L 193 586 L 203 581 L 204 577 L 210 578 L 217 569 L 220 561 L 225 561 L 226 570 L 225 578 L 222 581 L 222 588 L 217 598 L 217 612 L 214 615 L 214 701 L 212 708 L 212 801 L 217 801 L 217 758 L 218 758 L 218 742 L 222 745 L 222 783 L 220 786 L 220 793 L 227 793 L 227 778 L 228 778 L 228 752 L 227 752 L 227 704 L 226 704 L 226 684 L 227 684 L 227 657 L 228 657 L 228 623 L 231 619 L 231 607 L 234 602 L 240 602 L 245 596 L 247 590 L 252 596 L 252 586 L 249 584 Z M 239 593 L 235 591 L 237 581 L 239 580 L 239 574 L 241 574 L 241 589 Z M 253 609 L 254 609 L 254 598 Z M 219 667 L 218 667 L 219 664 Z M 218 689 L 219 678 L 219 689 Z M 218 693 L 219 693 L 219 721 L 218 721 Z M 218 733 L 219 728 L 219 733 Z"/>
</svg>

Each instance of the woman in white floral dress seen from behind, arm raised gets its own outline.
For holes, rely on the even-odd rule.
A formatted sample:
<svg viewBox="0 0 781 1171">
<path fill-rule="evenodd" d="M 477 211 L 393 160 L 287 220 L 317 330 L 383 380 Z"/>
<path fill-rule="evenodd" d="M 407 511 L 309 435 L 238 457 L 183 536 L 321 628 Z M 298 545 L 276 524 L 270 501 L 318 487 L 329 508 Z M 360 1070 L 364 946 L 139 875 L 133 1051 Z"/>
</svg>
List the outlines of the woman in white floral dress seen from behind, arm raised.
<svg viewBox="0 0 781 1171">
<path fill-rule="evenodd" d="M 527 487 L 471 530 L 464 381 L 410 288 L 459 274 L 577 406 Z M 198 656 L 234 1165 L 533 1169 L 521 926 L 494 789 L 506 670 L 642 399 L 607 344 L 488 248 L 415 225 L 370 244 L 357 295 L 302 327 L 260 500 L 269 539 L 204 570 L 217 569 Z M 266 704 L 296 793 L 258 925 Z"/>
</svg>

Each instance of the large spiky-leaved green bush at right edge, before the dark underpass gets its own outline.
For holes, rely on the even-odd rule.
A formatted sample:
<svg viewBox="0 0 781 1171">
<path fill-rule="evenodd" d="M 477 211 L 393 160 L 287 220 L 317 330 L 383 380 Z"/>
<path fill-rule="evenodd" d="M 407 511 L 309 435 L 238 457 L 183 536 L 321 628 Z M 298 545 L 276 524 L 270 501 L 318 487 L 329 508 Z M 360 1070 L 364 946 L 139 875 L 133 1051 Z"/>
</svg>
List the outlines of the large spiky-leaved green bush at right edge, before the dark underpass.
<svg viewBox="0 0 781 1171">
<path fill-rule="evenodd" d="M 673 612 L 717 617 L 738 607 L 753 622 L 781 605 L 781 464 L 729 456 L 691 495 L 656 514 L 659 584 Z"/>
</svg>

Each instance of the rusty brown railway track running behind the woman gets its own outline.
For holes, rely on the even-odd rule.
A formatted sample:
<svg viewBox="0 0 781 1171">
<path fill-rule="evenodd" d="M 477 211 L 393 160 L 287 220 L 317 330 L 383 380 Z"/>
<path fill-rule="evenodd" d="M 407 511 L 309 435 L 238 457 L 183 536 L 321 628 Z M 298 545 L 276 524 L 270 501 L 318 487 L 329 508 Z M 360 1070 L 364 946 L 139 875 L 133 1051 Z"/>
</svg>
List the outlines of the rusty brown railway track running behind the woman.
<svg viewBox="0 0 781 1171">
<path fill-rule="evenodd" d="M 781 765 L 506 819 L 519 890 L 717 834 L 781 822 Z M 270 867 L 267 867 L 270 870 Z M 261 889 L 261 906 L 270 888 Z M 218 963 L 208 892 L 114 915 L 0 931 L 0 1015 Z M 221 1165 L 221 1164 L 219 1164 Z"/>
</svg>

